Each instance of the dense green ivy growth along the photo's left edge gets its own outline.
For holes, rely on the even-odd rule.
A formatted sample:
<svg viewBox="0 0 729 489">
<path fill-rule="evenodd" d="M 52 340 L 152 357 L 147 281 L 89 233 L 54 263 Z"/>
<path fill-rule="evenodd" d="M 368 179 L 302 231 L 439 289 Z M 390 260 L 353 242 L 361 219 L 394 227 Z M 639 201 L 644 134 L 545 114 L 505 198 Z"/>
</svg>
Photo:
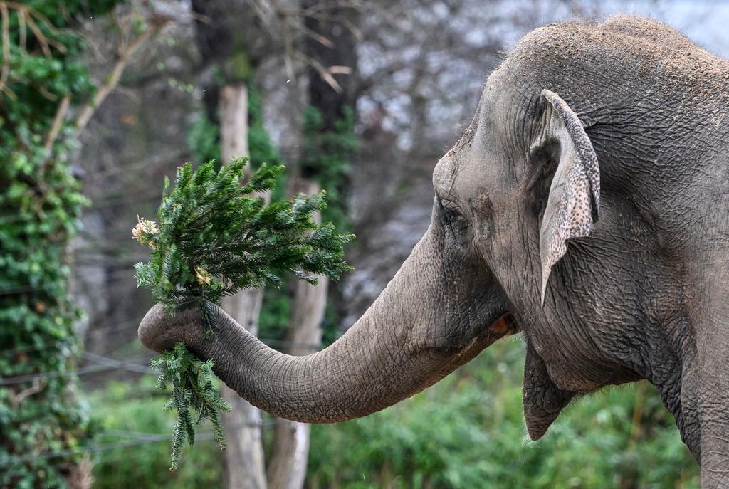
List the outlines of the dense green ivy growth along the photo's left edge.
<svg viewBox="0 0 729 489">
<path fill-rule="evenodd" d="M 73 24 L 117 0 L 0 1 L 0 486 L 62 488 L 93 429 L 73 375 L 69 240 L 85 197 L 66 109 L 93 85 Z M 63 8 L 61 8 L 63 7 Z M 48 458 L 48 452 L 68 456 Z"/>
</svg>

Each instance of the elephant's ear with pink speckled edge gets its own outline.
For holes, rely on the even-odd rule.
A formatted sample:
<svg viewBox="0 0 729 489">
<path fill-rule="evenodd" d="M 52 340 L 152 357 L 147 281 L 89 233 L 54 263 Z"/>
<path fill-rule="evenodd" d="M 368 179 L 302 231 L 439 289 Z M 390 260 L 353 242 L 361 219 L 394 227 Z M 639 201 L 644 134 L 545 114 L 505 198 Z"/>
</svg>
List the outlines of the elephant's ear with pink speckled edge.
<svg viewBox="0 0 729 489">
<path fill-rule="evenodd" d="M 535 146 L 556 144 L 559 163 L 550 187 L 542 226 L 539 255 L 542 261 L 542 297 L 552 267 L 567 251 L 567 240 L 589 236 L 600 209 L 600 168 L 582 122 L 572 109 L 550 91 L 542 90 L 545 112 L 542 133 Z M 534 149 L 534 146 L 532 146 Z"/>
</svg>

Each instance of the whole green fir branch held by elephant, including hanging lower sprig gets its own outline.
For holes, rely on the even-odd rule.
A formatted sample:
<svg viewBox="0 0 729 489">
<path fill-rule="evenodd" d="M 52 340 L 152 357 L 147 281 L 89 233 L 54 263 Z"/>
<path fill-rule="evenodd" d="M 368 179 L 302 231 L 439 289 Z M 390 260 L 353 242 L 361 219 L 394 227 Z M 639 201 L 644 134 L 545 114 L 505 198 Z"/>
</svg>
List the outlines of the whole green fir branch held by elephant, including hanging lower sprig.
<svg viewBox="0 0 729 489">
<path fill-rule="evenodd" d="M 317 276 L 337 279 L 351 270 L 343 262 L 343 245 L 353 235 L 333 224 L 317 224 L 311 215 L 326 208 L 325 193 L 298 195 L 267 204 L 257 192 L 276 185 L 283 166 L 262 164 L 241 184 L 247 158 L 232 160 L 215 171 L 214 162 L 196 170 L 185 163 L 174 187 L 165 179 L 157 222 L 139 219 L 132 235 L 152 249 L 149 263 L 135 266 L 138 286 L 152 289 L 168 313 L 202 308 L 206 337 L 215 329 L 211 304 L 241 289 L 280 286 L 284 277 L 315 284 Z M 182 445 L 192 445 L 195 426 L 210 419 L 225 448 L 219 411 L 230 406 L 212 381 L 212 361 L 200 361 L 184 344 L 151 362 L 161 373 L 157 386 L 172 385 L 165 410 L 177 410 L 171 440 L 171 469 L 179 464 Z"/>
</svg>

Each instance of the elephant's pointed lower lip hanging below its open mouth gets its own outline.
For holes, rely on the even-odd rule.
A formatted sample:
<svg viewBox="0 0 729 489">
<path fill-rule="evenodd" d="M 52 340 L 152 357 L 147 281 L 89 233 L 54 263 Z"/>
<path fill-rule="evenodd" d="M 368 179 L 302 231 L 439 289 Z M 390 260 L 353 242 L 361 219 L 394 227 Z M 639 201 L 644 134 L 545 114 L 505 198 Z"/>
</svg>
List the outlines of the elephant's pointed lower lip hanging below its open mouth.
<svg viewBox="0 0 729 489">
<path fill-rule="evenodd" d="M 527 343 L 523 403 L 529 438 L 537 441 L 543 437 L 574 394 L 576 393 L 564 391 L 555 385 L 547 372 L 544 360 L 534 351 L 531 343 Z"/>
</svg>

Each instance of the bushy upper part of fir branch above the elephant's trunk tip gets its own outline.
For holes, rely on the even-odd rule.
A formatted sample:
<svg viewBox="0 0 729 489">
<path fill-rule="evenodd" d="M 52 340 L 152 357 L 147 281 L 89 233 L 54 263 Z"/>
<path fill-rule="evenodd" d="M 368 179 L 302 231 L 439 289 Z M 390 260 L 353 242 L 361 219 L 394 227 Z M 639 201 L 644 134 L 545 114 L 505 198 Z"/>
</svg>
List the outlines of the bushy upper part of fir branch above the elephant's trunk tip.
<svg viewBox="0 0 729 489">
<path fill-rule="evenodd" d="M 138 283 L 152 288 L 169 312 L 200 300 L 219 303 L 241 289 L 277 286 L 290 273 L 336 279 L 351 270 L 342 246 L 352 236 L 311 219 L 326 208 L 324 193 L 266 206 L 251 194 L 272 189 L 283 167 L 263 164 L 241 185 L 246 161 L 233 160 L 217 172 L 213 162 L 195 171 L 186 163 L 174 187 L 165 184 L 157 223 L 140 219 L 133 230 L 152 248 L 149 264 L 136 265 Z"/>
</svg>

